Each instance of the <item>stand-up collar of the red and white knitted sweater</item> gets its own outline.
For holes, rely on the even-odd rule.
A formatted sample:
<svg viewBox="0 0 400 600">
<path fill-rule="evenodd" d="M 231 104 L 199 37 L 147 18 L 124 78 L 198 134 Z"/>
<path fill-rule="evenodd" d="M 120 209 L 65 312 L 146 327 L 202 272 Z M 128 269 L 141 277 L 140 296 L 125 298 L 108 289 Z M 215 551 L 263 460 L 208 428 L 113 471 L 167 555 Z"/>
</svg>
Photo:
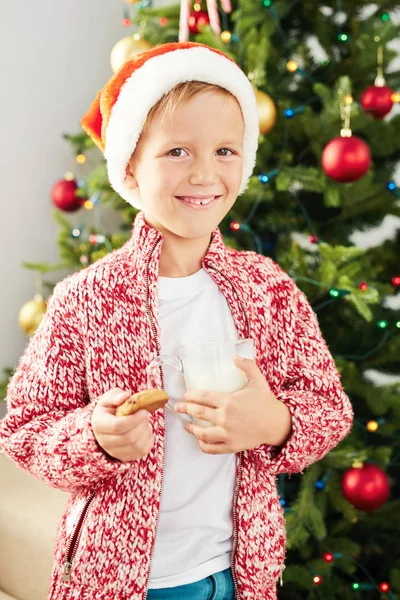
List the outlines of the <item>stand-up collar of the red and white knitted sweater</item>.
<svg viewBox="0 0 400 600">
<path fill-rule="evenodd" d="M 147 264 L 157 265 L 158 269 L 163 240 L 162 233 L 151 227 L 145 220 L 144 212 L 140 211 L 136 215 L 132 235 L 125 246 L 139 272 L 143 273 Z M 219 227 L 211 234 L 210 245 L 202 262 L 204 268 L 208 265 L 218 266 L 222 270 L 228 266 L 227 248 Z"/>
</svg>

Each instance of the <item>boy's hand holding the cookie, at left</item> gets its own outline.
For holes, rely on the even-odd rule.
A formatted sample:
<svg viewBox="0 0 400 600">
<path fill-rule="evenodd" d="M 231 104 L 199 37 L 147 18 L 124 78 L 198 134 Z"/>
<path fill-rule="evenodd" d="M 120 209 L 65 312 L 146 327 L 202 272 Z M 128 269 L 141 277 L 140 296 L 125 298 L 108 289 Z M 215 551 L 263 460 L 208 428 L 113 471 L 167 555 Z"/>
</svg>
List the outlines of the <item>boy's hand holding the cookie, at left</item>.
<svg viewBox="0 0 400 600">
<path fill-rule="evenodd" d="M 91 425 L 100 447 L 113 458 L 123 462 L 147 456 L 154 446 L 149 423 L 150 413 L 138 410 L 133 415 L 117 417 L 115 411 L 132 395 L 113 388 L 100 396 L 92 413 Z"/>
</svg>

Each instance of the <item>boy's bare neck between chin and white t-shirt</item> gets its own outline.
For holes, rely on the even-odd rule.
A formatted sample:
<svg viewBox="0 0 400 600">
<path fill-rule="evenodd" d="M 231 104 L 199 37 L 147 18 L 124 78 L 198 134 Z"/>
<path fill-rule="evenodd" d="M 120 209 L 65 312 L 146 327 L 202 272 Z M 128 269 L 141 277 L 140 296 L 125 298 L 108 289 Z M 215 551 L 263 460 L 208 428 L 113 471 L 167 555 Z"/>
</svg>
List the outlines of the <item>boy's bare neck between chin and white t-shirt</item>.
<svg viewBox="0 0 400 600">
<path fill-rule="evenodd" d="M 211 235 L 202 238 L 187 239 L 163 233 L 163 246 L 160 256 L 160 277 L 188 277 L 202 268 L 207 254 Z"/>
</svg>

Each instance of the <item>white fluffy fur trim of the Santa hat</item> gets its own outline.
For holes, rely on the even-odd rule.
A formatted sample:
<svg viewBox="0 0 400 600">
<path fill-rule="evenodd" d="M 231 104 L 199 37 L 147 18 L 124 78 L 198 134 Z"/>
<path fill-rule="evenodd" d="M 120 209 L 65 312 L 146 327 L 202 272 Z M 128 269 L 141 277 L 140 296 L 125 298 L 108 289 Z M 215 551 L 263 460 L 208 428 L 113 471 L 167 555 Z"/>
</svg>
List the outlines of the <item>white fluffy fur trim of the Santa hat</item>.
<svg viewBox="0 0 400 600">
<path fill-rule="evenodd" d="M 230 59 L 207 48 L 178 49 L 148 59 L 122 85 L 106 129 L 104 156 L 114 190 L 142 210 L 137 189 L 124 184 L 126 165 L 154 104 L 184 81 L 203 81 L 227 89 L 238 100 L 244 118 L 243 175 L 239 194 L 253 172 L 259 136 L 257 101 L 244 72 Z"/>
</svg>

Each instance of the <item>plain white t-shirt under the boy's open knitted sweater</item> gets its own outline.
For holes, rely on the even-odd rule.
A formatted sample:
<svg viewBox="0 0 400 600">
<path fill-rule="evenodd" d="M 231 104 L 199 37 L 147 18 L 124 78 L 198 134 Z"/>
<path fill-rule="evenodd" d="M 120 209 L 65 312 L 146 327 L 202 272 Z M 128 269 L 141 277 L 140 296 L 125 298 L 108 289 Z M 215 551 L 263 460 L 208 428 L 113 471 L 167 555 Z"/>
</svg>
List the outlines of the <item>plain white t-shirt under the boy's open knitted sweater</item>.
<svg viewBox="0 0 400 600">
<path fill-rule="evenodd" d="M 201 269 L 189 277 L 159 277 L 161 353 L 186 344 L 237 340 L 224 295 Z M 164 387 L 183 399 L 180 373 L 163 367 Z M 236 454 L 204 454 L 182 420 L 166 410 L 166 462 L 150 588 L 175 587 L 227 569 L 232 556 Z"/>
</svg>

